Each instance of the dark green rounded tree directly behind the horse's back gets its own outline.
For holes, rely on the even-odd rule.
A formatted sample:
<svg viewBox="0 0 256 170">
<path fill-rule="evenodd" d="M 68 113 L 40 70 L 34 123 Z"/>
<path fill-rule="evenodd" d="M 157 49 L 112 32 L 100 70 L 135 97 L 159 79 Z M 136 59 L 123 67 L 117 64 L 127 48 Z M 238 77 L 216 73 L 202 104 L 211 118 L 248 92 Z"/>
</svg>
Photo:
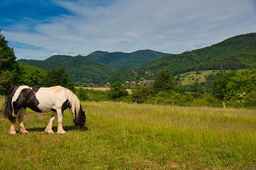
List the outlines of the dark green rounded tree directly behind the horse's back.
<svg viewBox="0 0 256 170">
<path fill-rule="evenodd" d="M 73 82 L 63 67 L 56 67 L 46 73 L 45 86 L 64 86 L 74 90 Z"/>
</svg>

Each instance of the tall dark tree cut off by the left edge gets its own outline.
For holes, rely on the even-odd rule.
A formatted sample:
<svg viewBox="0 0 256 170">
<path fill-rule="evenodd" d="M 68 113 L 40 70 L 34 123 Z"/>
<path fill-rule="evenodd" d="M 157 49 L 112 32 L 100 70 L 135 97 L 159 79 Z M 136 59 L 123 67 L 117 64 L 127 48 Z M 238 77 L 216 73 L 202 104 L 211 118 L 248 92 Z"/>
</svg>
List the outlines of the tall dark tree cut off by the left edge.
<svg viewBox="0 0 256 170">
<path fill-rule="evenodd" d="M 0 94 L 6 95 L 12 85 L 18 81 L 18 63 L 14 49 L 8 46 L 0 30 Z"/>
</svg>

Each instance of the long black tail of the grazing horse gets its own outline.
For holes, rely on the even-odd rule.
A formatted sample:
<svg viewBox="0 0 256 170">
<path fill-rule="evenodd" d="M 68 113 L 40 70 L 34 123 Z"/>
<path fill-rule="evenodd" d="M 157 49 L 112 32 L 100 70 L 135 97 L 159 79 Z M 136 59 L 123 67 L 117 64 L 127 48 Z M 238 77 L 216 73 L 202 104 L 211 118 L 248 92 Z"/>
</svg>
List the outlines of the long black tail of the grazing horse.
<svg viewBox="0 0 256 170">
<path fill-rule="evenodd" d="M 11 90 L 8 94 L 8 96 L 6 96 L 6 101 L 4 103 L 4 116 L 6 118 L 8 118 L 12 123 L 15 123 L 16 121 L 16 117 L 14 115 L 12 115 L 13 112 L 13 108 L 11 106 L 11 101 L 12 101 L 12 96 L 11 94 L 13 93 L 13 91 L 16 89 L 17 86 L 12 86 Z"/>
</svg>

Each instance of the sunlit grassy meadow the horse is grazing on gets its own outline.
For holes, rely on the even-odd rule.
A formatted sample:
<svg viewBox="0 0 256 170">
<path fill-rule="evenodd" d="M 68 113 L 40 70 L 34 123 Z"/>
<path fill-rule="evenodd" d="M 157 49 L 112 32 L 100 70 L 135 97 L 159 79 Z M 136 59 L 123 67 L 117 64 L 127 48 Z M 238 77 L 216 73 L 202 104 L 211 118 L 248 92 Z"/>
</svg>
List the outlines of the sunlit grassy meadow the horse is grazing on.
<svg viewBox="0 0 256 170">
<path fill-rule="evenodd" d="M 0 169 L 256 169 L 255 110 L 82 106 L 87 130 L 76 130 L 65 111 L 65 135 L 43 132 L 50 113 L 27 111 L 29 132 L 11 136 L 0 108 Z M 55 121 L 55 132 L 56 126 Z"/>
</svg>

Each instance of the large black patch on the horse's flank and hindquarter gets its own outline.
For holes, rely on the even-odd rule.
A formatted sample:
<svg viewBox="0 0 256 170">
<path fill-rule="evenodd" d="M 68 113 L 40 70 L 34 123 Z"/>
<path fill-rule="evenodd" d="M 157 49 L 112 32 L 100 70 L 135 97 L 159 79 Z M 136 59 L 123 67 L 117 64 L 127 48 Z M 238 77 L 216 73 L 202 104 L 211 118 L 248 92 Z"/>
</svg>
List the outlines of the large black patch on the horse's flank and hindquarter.
<svg viewBox="0 0 256 170">
<path fill-rule="evenodd" d="M 14 101 L 14 114 L 18 114 L 20 108 L 31 108 L 33 111 L 42 112 L 38 108 L 39 101 L 36 99 L 36 94 L 31 89 L 22 89 L 16 101 Z"/>
</svg>

